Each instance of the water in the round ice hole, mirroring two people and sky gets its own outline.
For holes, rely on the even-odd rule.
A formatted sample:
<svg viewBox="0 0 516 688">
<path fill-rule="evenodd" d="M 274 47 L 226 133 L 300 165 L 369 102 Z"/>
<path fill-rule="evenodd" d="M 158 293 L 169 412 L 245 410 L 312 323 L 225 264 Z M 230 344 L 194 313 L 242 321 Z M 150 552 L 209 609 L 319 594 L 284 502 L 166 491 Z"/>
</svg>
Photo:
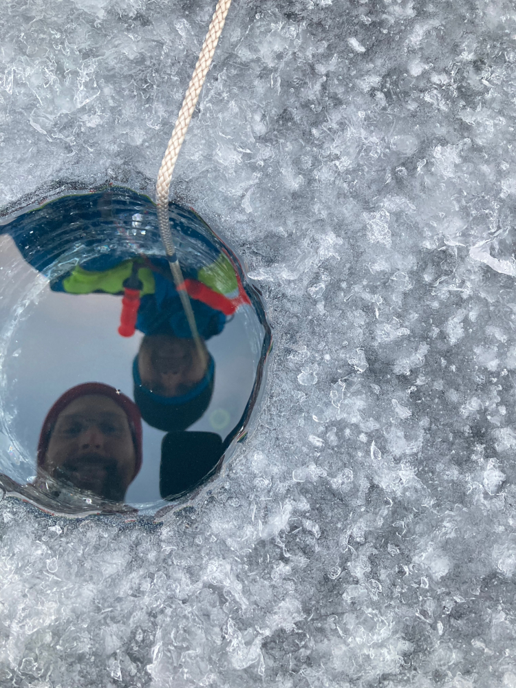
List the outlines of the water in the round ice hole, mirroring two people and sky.
<svg viewBox="0 0 516 688">
<path fill-rule="evenodd" d="M 0 453 L 8 490 L 52 510 L 141 508 L 189 493 L 242 436 L 270 345 L 259 294 L 195 213 L 171 204 L 171 226 L 200 346 L 145 197 L 120 189 L 62 197 L 4 227 L 25 264 L 48 278 L 41 303 L 20 308 L 18 294 L 0 367 L 12 381 L 2 431 L 19 449 L 14 461 Z M 6 248 L 7 276 L 20 259 Z M 50 301 L 56 322 L 69 309 L 64 327 L 40 315 Z M 58 365 L 45 370 L 57 351 Z M 36 398 L 52 407 L 34 452 Z"/>
</svg>

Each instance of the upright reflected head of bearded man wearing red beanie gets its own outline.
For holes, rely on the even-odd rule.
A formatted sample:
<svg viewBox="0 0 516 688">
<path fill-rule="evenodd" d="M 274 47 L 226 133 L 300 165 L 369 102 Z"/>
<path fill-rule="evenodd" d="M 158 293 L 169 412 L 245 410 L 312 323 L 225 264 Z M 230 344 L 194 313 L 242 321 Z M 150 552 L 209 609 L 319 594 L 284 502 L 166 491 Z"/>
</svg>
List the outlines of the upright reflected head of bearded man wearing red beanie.
<svg viewBox="0 0 516 688">
<path fill-rule="evenodd" d="M 140 413 L 114 387 L 73 387 L 47 414 L 38 466 L 55 480 L 121 502 L 141 464 Z"/>
</svg>

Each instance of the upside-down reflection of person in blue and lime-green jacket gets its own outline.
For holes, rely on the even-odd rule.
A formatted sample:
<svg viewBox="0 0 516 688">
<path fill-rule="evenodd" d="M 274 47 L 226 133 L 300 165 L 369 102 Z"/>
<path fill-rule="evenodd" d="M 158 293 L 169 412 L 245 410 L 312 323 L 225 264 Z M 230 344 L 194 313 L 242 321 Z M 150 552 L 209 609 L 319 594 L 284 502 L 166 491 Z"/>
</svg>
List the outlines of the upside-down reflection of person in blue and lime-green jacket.
<svg viewBox="0 0 516 688">
<path fill-rule="evenodd" d="M 153 427 L 182 431 L 202 416 L 213 394 L 215 363 L 204 342 L 222 332 L 228 316 L 249 299 L 233 262 L 200 217 L 171 204 L 171 223 L 176 234 L 200 247 L 197 256 L 187 252 L 182 269 L 201 351 L 166 258 L 144 255 L 134 244 L 135 224 L 147 227 L 147 241 L 157 235 L 155 206 L 146 197 L 127 189 L 65 196 L 20 215 L 6 230 L 54 291 L 123 294 L 127 279 L 138 279 L 136 329 L 144 337 L 133 361 L 134 400 Z M 114 248 L 82 261 L 74 255 L 75 246 L 87 255 L 99 244 Z M 66 272 L 63 259 L 69 261 Z"/>
</svg>

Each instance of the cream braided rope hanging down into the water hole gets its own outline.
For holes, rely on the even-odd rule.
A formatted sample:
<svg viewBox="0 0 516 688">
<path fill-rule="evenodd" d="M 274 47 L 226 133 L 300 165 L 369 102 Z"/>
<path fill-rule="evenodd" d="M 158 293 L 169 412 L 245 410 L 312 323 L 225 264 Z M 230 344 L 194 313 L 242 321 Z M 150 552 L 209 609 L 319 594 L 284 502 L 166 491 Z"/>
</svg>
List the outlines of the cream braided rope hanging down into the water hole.
<svg viewBox="0 0 516 688">
<path fill-rule="evenodd" d="M 215 48 L 217 47 L 220 34 L 224 28 L 224 22 L 226 21 L 226 15 L 228 14 L 230 4 L 231 0 L 219 0 L 217 3 L 215 14 L 213 14 L 213 19 L 211 20 L 210 28 L 208 29 L 208 34 L 206 34 L 206 38 L 202 44 L 202 50 L 199 59 L 197 60 L 188 90 L 184 96 L 178 119 L 175 122 L 172 136 L 169 140 L 168 146 L 166 147 L 166 151 L 160 166 L 160 171 L 158 172 L 158 181 L 156 182 L 156 206 L 161 238 L 166 250 L 166 257 L 169 259 L 169 266 L 172 272 L 175 288 L 179 292 L 182 306 L 186 314 L 186 319 L 188 320 L 192 336 L 195 340 L 197 352 L 199 352 L 203 361 L 206 359 L 206 354 L 204 352 L 204 347 L 202 346 L 199 332 L 197 331 L 197 325 L 195 324 L 195 317 L 193 315 L 189 295 L 186 292 L 186 289 L 183 288 L 183 274 L 178 261 L 178 256 L 175 252 L 175 246 L 170 229 L 169 192 L 175 162 L 178 160 L 179 151 L 181 150 L 184 137 L 186 136 L 186 131 L 188 130 L 190 120 L 195 110 L 195 105 L 197 105 L 197 100 L 199 99 L 202 91 L 204 79 L 206 78 L 206 74 L 208 74 L 208 69 L 210 68 L 213 55 L 215 54 Z"/>
</svg>

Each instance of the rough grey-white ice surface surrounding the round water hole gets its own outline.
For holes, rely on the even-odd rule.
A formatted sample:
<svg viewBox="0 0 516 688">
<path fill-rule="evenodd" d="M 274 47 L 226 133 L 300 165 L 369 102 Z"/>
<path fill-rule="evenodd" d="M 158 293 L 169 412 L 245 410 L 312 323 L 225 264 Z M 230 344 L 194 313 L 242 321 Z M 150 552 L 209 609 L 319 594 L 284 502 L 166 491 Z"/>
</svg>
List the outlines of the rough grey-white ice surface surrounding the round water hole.
<svg viewBox="0 0 516 688">
<path fill-rule="evenodd" d="M 17 0 L 6 208 L 151 192 L 214 3 Z M 255 434 L 162 524 L 3 499 L 0 685 L 516 686 L 516 13 L 235 0 L 173 193 L 275 327 Z"/>
</svg>

